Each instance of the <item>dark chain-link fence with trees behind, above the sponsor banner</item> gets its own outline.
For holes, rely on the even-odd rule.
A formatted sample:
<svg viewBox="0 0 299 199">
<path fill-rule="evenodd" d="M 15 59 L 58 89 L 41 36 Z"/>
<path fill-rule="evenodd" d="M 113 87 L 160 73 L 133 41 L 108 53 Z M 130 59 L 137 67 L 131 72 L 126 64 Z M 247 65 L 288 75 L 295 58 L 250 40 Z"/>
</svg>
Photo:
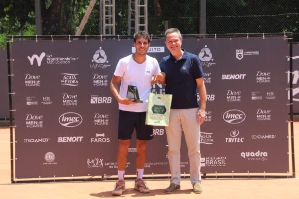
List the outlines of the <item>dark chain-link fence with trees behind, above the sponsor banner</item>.
<svg viewBox="0 0 299 199">
<path fill-rule="evenodd" d="M 6 35 L 35 35 L 34 0 L 0 1 L 0 45 Z M 74 35 L 89 0 L 41 0 L 43 35 Z M 201 3 L 206 4 L 206 34 L 293 32 L 299 41 L 299 0 L 148 0 L 148 31 L 163 34 L 176 27 L 199 34 Z M 116 34 L 128 34 L 128 0 L 115 0 Z M 204 18 L 203 18 L 204 19 Z M 100 35 L 97 0 L 81 35 Z"/>
</svg>

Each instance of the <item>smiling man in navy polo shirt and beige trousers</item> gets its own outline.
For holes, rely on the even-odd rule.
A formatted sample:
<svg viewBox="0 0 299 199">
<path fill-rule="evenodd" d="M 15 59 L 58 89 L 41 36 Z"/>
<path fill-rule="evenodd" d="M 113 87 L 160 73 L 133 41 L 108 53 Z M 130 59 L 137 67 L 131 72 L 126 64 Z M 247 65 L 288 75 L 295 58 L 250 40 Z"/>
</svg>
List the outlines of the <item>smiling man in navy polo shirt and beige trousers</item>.
<svg viewBox="0 0 299 199">
<path fill-rule="evenodd" d="M 176 28 L 165 32 L 165 44 L 170 55 L 163 57 L 160 69 L 166 74 L 166 94 L 172 94 L 169 126 L 166 126 L 170 186 L 165 193 L 180 189 L 180 141 L 183 128 L 188 147 L 190 181 L 193 192 L 202 192 L 200 177 L 200 125 L 205 120 L 206 89 L 198 57 L 181 49 L 182 36 Z M 200 105 L 197 102 L 198 88 Z"/>
</svg>

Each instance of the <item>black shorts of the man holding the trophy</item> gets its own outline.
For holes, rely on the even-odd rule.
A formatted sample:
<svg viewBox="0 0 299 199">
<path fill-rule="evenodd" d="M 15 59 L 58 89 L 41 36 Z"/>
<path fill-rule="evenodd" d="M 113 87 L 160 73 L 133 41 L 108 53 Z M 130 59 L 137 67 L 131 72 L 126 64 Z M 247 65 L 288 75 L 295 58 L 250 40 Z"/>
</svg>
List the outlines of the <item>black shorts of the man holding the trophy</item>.
<svg viewBox="0 0 299 199">
<path fill-rule="evenodd" d="M 151 140 L 153 138 L 152 126 L 146 125 L 147 112 L 131 112 L 120 110 L 119 131 L 120 140 L 131 139 L 136 129 L 136 137 L 139 140 Z"/>
</svg>

